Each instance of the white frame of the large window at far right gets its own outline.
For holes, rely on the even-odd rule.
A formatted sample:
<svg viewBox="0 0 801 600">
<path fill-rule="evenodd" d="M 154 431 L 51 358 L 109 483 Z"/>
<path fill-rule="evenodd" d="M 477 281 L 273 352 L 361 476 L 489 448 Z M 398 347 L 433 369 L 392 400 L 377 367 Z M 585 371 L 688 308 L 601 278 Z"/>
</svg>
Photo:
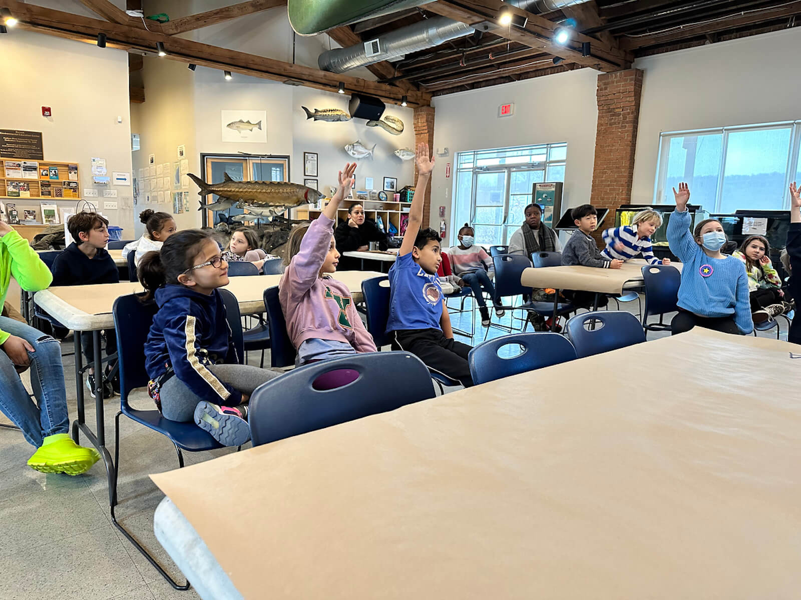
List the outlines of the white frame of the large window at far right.
<svg viewBox="0 0 801 600">
<path fill-rule="evenodd" d="M 790 129 L 790 144 L 787 149 L 787 162 L 785 162 L 782 205 L 779 208 L 769 210 L 790 210 L 790 183 L 794 181 L 795 174 L 801 171 L 801 164 L 799 164 L 799 154 L 801 154 L 801 151 L 799 151 L 799 148 L 801 148 L 801 119 L 797 121 L 779 121 L 751 125 L 710 127 L 697 130 L 663 131 L 661 134 L 659 134 L 659 150 L 657 155 L 656 177 L 654 179 L 654 204 L 662 203 L 662 197 L 666 192 L 665 182 L 667 180 L 667 163 L 670 160 L 670 141 L 673 138 L 685 138 L 691 135 L 702 136 L 714 134 L 719 134 L 721 136 L 720 164 L 718 165 L 718 180 L 715 186 L 714 206 L 710 209 L 707 209 L 705 206 L 705 210 L 709 210 L 710 214 L 719 214 L 721 203 L 723 202 L 723 179 L 726 173 L 729 134 L 787 128 Z M 666 202 L 671 204 L 672 202 L 670 202 L 670 198 L 666 198 Z"/>
</svg>

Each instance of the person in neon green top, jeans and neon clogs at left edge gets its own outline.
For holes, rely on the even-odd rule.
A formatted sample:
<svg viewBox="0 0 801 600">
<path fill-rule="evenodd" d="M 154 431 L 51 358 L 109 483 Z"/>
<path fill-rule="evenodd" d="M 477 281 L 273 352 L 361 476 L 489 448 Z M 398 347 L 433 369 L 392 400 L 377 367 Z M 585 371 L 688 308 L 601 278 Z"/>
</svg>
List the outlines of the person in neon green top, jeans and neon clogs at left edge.
<svg viewBox="0 0 801 600">
<path fill-rule="evenodd" d="M 53 278 L 26 239 L 0 221 L 0 305 L 12 277 L 26 291 L 44 290 Z M 36 402 L 19 378 L 30 367 Z M 8 317 L 0 317 L 0 410 L 37 449 L 28 459 L 32 469 L 78 475 L 100 458 L 96 450 L 78 446 L 70 438 L 58 340 Z"/>
</svg>

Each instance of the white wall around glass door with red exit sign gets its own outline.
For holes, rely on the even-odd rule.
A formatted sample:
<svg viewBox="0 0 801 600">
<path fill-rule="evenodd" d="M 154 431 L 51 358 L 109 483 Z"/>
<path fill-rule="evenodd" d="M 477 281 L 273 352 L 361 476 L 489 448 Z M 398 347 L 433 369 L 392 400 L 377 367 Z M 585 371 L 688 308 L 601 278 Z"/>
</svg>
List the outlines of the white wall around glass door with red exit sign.
<svg viewBox="0 0 801 600">
<path fill-rule="evenodd" d="M 431 226 L 439 229 L 439 207 L 445 206 L 451 237 L 455 225 L 450 214 L 454 158 L 465 150 L 567 142 L 562 210 L 590 202 L 598 121 L 597 78 L 597 71 L 582 69 L 434 98 L 434 146 L 447 146 L 449 155 L 437 156 Z M 515 104 L 513 116 L 498 118 L 498 106 L 507 102 Z M 448 162 L 452 176 L 446 179 Z"/>
</svg>

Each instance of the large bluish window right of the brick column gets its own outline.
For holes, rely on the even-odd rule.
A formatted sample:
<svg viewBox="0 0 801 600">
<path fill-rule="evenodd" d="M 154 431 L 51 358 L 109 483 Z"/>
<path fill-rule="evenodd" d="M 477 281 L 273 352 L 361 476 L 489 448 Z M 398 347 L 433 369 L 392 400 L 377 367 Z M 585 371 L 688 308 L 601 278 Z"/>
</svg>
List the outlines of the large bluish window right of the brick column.
<svg viewBox="0 0 801 600">
<path fill-rule="evenodd" d="M 801 121 L 662 134 L 654 202 L 673 204 L 672 188 L 687 182 L 690 202 L 710 213 L 788 210 L 799 139 Z"/>
</svg>

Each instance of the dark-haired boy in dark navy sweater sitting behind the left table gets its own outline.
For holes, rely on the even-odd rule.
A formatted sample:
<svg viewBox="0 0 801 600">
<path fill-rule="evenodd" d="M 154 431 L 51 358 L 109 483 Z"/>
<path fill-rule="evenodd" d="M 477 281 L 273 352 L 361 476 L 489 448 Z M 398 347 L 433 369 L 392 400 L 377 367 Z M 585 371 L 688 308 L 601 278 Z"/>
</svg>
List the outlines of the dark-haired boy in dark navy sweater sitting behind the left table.
<svg viewBox="0 0 801 600">
<path fill-rule="evenodd" d="M 74 242 L 66 247 L 53 263 L 54 286 L 88 286 L 93 283 L 119 283 L 119 271 L 106 250 L 108 243 L 108 221 L 97 213 L 78 213 L 70 217 L 67 229 Z M 114 330 L 107 330 L 106 355 L 117 351 L 117 336 Z M 87 364 L 95 360 L 95 344 L 93 333 L 81 333 L 83 355 Z M 109 369 L 111 370 L 111 365 Z M 89 370 L 87 386 L 92 398 L 95 398 L 95 370 Z M 112 382 L 103 382 L 103 398 L 114 394 Z"/>
</svg>

